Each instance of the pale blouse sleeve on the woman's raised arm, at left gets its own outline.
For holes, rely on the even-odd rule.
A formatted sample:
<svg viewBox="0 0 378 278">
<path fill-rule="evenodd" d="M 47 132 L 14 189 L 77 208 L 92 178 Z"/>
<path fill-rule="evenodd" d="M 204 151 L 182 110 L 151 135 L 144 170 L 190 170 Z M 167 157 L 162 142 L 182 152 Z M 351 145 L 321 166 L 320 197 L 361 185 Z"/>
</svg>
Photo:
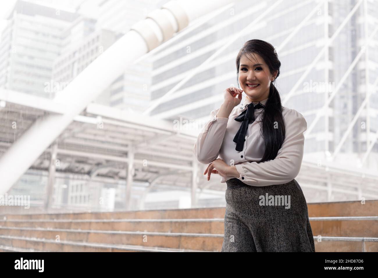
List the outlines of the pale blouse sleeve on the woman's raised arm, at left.
<svg viewBox="0 0 378 278">
<path fill-rule="evenodd" d="M 202 128 L 194 143 L 193 152 L 198 162 L 208 164 L 217 159 L 225 137 L 228 118 L 217 117 L 218 109 L 212 110 L 210 119 Z"/>
</svg>

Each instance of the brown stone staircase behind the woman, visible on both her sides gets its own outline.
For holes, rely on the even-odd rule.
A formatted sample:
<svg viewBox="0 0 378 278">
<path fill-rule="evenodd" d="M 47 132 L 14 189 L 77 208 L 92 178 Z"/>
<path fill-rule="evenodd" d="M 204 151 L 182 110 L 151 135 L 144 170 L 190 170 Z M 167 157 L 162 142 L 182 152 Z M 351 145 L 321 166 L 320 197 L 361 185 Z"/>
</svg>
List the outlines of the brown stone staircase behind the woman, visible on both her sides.
<svg viewBox="0 0 378 278">
<path fill-rule="evenodd" d="M 378 252 L 378 200 L 309 203 L 316 252 Z M 0 215 L 3 252 L 220 252 L 225 207 Z M 318 237 L 319 236 L 319 237 Z"/>
</svg>

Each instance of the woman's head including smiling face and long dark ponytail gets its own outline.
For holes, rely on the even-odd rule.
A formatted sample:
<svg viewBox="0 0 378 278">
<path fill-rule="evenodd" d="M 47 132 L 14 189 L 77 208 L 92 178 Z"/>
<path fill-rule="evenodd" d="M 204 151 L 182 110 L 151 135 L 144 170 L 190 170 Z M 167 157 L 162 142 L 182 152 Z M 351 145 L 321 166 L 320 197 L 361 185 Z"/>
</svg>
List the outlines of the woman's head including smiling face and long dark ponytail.
<svg viewBox="0 0 378 278">
<path fill-rule="evenodd" d="M 238 85 L 242 87 L 247 99 L 256 103 L 268 99 L 261 119 L 265 153 L 260 162 L 274 159 L 285 139 L 281 98 L 272 83 L 280 74 L 280 66 L 273 45 L 263 40 L 249 40 L 236 58 Z M 278 128 L 270 124 L 274 122 Z"/>
</svg>

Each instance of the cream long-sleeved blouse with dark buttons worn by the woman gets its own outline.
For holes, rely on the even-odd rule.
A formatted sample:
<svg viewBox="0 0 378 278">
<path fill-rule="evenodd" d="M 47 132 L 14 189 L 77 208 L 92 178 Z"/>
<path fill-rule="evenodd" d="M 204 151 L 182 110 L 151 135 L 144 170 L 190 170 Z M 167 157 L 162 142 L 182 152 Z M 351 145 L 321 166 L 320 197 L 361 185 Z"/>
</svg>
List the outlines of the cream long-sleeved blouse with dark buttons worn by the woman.
<svg viewBox="0 0 378 278">
<path fill-rule="evenodd" d="M 264 104 L 268 98 L 260 101 Z M 253 186 L 268 186 L 287 183 L 293 180 L 301 169 L 304 149 L 304 132 L 307 122 L 301 113 L 283 107 L 282 116 L 285 122 L 285 140 L 273 160 L 258 163 L 264 155 L 264 141 L 260 135 L 261 114 L 263 108 L 255 109 L 255 121 L 248 125 L 243 151 L 236 151 L 233 141 L 242 123 L 234 119 L 239 116 L 251 101 L 246 98 L 243 104 L 235 106 L 228 118 L 217 117 L 218 109 L 213 110 L 211 120 L 205 124 L 193 152 L 198 162 L 208 164 L 221 158 L 228 165 L 235 165 L 240 176 L 237 179 Z M 254 102 L 256 105 L 258 102 Z M 213 175 L 213 174 L 212 174 Z M 221 177 L 220 182 L 235 177 Z"/>
</svg>

